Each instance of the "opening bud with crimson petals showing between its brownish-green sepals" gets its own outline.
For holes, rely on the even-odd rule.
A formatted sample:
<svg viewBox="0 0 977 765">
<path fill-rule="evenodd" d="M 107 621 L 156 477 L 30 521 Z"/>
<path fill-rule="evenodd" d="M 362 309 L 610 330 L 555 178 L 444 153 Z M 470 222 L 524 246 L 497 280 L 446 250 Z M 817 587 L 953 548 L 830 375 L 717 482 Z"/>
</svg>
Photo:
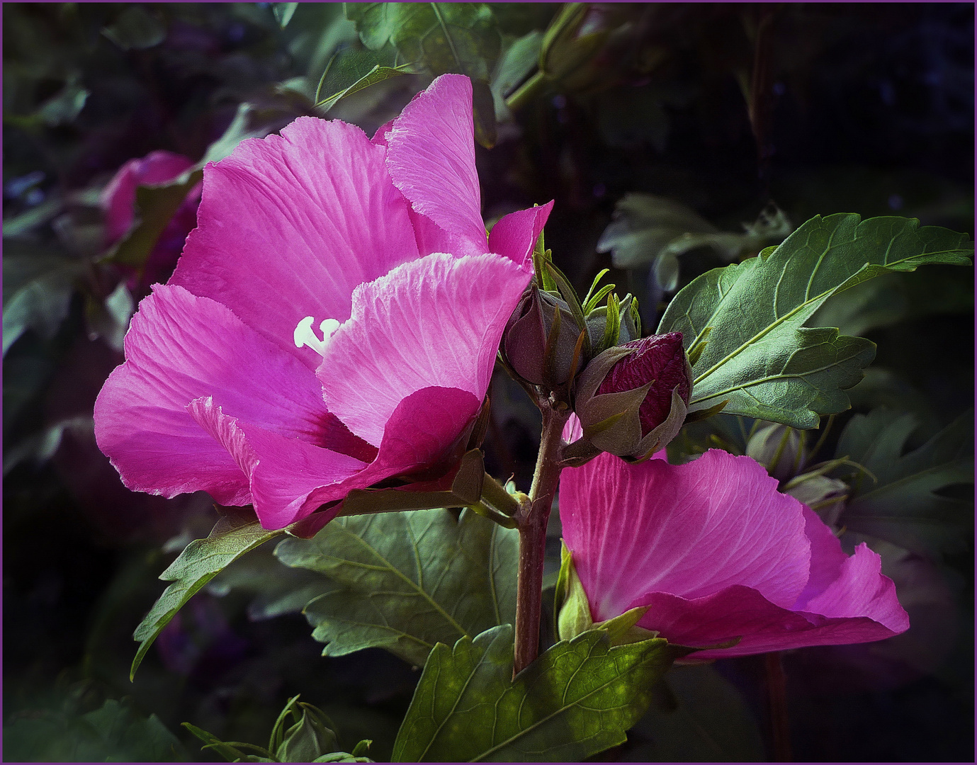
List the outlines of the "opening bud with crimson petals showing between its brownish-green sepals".
<svg viewBox="0 0 977 765">
<path fill-rule="evenodd" d="M 610 348 L 580 374 L 575 411 L 583 440 L 621 457 L 650 456 L 678 434 L 691 393 L 681 332 Z"/>
</svg>

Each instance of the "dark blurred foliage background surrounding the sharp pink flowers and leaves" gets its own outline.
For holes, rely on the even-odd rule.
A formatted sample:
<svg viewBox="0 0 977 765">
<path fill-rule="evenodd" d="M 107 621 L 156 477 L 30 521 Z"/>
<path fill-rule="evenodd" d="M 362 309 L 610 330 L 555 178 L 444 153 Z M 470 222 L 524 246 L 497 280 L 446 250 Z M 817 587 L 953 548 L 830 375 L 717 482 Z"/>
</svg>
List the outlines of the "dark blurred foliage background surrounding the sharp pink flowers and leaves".
<svg viewBox="0 0 977 765">
<path fill-rule="evenodd" d="M 384 31 L 376 4 L 3 5 L 4 759 L 214 758 L 181 722 L 261 743 L 299 693 L 347 751 L 368 738 L 389 757 L 419 671 L 379 650 L 321 658 L 283 597 L 314 574 L 271 549 L 211 582 L 128 679 L 156 577 L 216 514 L 205 494 L 124 489 L 92 405 L 195 225 L 200 168 L 240 140 L 302 114 L 371 135 L 434 76 L 466 73 L 487 224 L 555 199 L 557 265 L 581 294 L 611 269 L 646 333 L 692 278 L 817 214 L 973 234 L 972 4 L 445 5 L 447 53 L 432 8 Z M 859 530 L 860 489 L 828 487 L 828 522 L 883 556 L 913 627 L 784 656 L 793 757 L 972 760 L 973 272 L 879 277 L 822 312 L 878 353 L 804 461 L 874 412 L 909 418 L 895 454 L 938 475 L 904 476 L 904 498 L 935 509 L 896 534 Z M 504 376 L 491 403 L 489 471 L 526 489 L 538 412 Z M 756 452 L 736 435 L 752 423 L 715 419 L 688 452 Z M 891 513 L 913 516 L 906 502 Z M 558 550 L 557 514 L 551 531 Z M 677 667 L 660 691 L 602 759 L 773 756 L 762 657 Z"/>
</svg>

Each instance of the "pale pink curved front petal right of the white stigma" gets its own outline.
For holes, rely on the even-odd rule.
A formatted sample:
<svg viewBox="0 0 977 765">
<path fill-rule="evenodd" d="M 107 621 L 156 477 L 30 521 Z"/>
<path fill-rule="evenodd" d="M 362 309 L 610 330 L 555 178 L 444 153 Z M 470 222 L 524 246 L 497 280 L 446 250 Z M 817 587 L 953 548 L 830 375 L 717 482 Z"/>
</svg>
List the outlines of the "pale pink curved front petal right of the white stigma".
<svg viewBox="0 0 977 765">
<path fill-rule="evenodd" d="M 329 410 L 379 446 L 394 410 L 416 391 L 457 388 L 481 402 L 530 278 L 496 255 L 435 254 L 361 285 L 317 372 Z"/>
</svg>

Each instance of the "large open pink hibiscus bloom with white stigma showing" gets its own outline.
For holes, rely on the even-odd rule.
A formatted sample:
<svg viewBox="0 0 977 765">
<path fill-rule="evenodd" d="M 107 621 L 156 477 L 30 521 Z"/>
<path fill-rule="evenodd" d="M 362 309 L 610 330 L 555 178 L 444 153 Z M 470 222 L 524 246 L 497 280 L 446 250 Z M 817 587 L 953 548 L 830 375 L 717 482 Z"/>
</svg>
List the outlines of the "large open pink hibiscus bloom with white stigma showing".
<svg viewBox="0 0 977 765">
<path fill-rule="evenodd" d="M 204 489 L 277 529 L 450 468 L 551 206 L 487 238 L 471 94 L 445 75 L 372 141 L 301 117 L 207 166 L 198 227 L 95 404 L 127 487 Z"/>
</svg>

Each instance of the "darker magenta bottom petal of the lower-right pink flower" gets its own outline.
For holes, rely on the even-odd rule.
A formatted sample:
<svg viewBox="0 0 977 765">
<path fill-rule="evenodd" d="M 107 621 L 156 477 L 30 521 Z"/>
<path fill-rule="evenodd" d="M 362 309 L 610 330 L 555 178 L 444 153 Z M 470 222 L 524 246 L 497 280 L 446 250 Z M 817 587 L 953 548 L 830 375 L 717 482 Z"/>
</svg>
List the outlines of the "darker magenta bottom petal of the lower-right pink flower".
<svg viewBox="0 0 977 765">
<path fill-rule="evenodd" d="M 775 606 L 750 587 L 734 585 L 697 599 L 654 593 L 635 606 L 649 606 L 638 622 L 685 646 L 713 646 L 741 637 L 732 648 L 703 651 L 694 659 L 763 654 L 805 646 L 868 643 L 897 630 L 868 616 L 832 618 Z M 902 631 L 902 630 L 898 630 Z"/>
</svg>

